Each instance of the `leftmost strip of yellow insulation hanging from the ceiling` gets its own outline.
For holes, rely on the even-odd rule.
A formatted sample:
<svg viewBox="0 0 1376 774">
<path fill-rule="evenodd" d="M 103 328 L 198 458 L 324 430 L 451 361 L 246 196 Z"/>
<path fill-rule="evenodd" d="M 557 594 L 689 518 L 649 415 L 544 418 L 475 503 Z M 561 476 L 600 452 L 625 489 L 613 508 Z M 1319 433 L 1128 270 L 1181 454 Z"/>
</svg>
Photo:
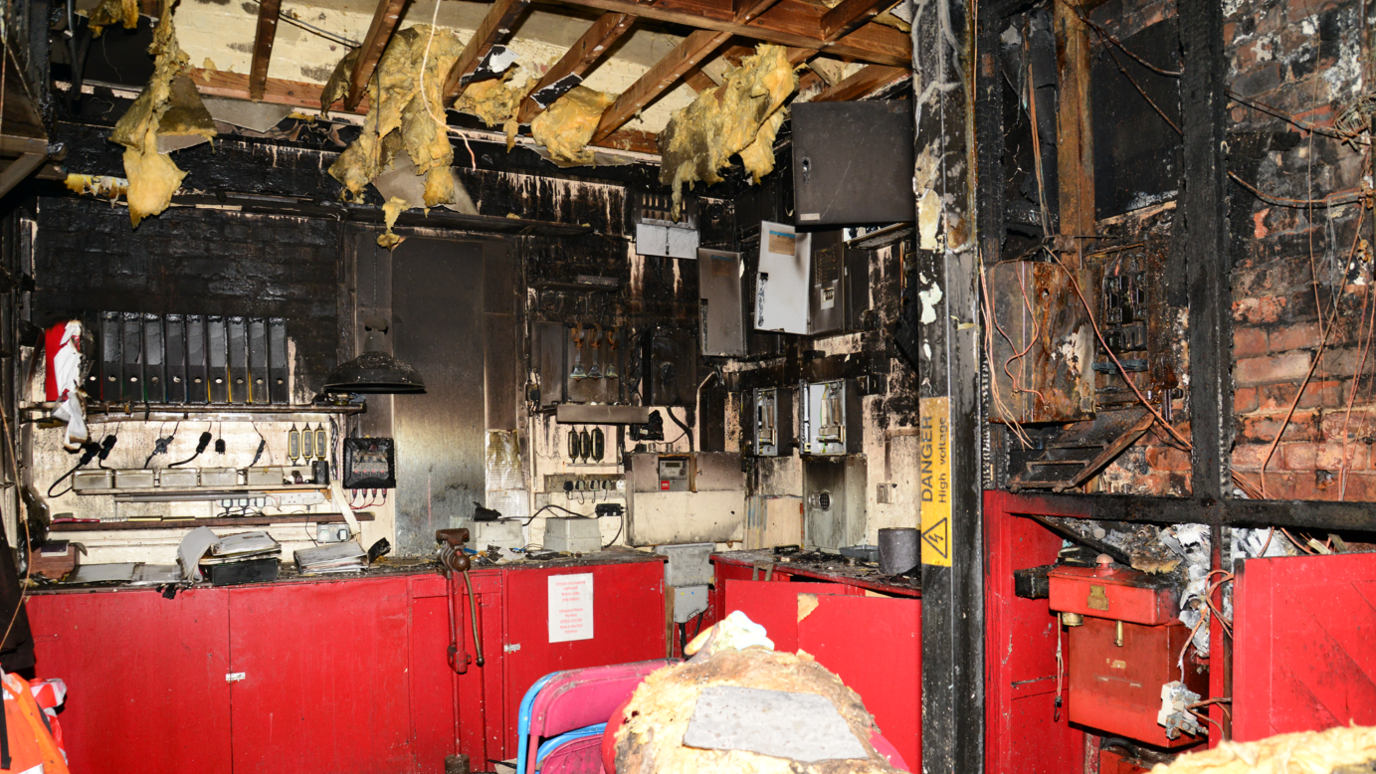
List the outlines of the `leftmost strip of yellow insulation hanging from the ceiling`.
<svg viewBox="0 0 1376 774">
<path fill-rule="evenodd" d="M 139 220 L 166 209 L 172 204 L 172 194 L 186 176 L 186 172 L 165 153 L 158 153 L 162 117 L 173 107 L 173 81 L 182 76 L 187 65 L 186 52 L 178 45 L 176 30 L 172 26 L 172 1 L 162 0 L 158 28 L 153 32 L 153 44 L 149 45 L 149 54 L 154 56 L 153 77 L 110 132 L 110 139 L 125 149 L 124 176 L 129 179 L 129 220 L 135 227 Z M 194 92 L 193 88 L 191 94 Z M 200 96 L 195 96 L 195 101 L 200 101 Z M 187 129 L 179 134 L 215 136 L 213 128 Z"/>
</svg>

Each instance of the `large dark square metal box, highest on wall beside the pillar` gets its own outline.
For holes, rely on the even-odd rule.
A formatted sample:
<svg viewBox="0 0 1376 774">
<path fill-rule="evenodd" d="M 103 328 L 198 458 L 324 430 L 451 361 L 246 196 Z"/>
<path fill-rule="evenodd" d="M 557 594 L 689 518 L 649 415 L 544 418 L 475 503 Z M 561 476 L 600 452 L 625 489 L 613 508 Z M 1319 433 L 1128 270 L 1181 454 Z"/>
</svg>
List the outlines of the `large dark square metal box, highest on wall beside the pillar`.
<svg viewBox="0 0 1376 774">
<path fill-rule="evenodd" d="M 915 219 L 911 101 L 808 102 L 791 110 L 798 226 Z"/>
</svg>

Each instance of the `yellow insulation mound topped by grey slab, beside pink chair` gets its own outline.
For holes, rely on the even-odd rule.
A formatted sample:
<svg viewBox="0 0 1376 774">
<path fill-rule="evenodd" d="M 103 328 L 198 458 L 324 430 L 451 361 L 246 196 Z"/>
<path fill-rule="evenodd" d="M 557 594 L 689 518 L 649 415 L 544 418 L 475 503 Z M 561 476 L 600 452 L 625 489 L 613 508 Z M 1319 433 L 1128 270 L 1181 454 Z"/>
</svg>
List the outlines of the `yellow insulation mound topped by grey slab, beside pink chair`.
<svg viewBox="0 0 1376 774">
<path fill-rule="evenodd" d="M 743 686 L 827 697 L 860 740 L 870 757 L 802 763 L 747 751 L 682 746 L 684 731 L 707 686 Z M 892 774 L 870 744 L 874 718 L 835 675 L 806 653 L 775 653 L 760 647 L 720 650 L 707 658 L 666 667 L 645 678 L 626 705 L 626 723 L 616 733 L 621 774 Z"/>
</svg>

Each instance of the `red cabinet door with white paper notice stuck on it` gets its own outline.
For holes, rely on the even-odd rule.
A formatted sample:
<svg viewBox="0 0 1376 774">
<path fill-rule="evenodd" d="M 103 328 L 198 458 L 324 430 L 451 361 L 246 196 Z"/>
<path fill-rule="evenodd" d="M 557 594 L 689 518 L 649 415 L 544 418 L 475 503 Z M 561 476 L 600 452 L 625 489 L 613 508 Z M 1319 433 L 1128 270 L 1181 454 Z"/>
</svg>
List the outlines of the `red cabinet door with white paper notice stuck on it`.
<svg viewBox="0 0 1376 774">
<path fill-rule="evenodd" d="M 549 577 L 592 574 L 593 639 L 549 642 Z M 665 566 L 630 562 L 505 572 L 505 757 L 516 756 L 520 700 L 549 672 L 665 657 Z M 475 766 L 476 768 L 476 766 Z"/>
</svg>

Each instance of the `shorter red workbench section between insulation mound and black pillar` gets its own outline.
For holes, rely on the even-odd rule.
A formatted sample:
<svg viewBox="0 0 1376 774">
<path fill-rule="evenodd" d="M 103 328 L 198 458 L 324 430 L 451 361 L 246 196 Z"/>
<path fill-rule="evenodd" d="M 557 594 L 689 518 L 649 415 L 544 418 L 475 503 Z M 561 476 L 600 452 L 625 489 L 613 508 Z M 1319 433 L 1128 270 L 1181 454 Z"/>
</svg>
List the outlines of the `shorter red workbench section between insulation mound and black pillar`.
<svg viewBox="0 0 1376 774">
<path fill-rule="evenodd" d="M 819 554 L 713 554 L 703 627 L 732 610 L 775 650 L 806 651 L 853 689 L 911 771 L 922 770 L 922 583 Z"/>
</svg>

